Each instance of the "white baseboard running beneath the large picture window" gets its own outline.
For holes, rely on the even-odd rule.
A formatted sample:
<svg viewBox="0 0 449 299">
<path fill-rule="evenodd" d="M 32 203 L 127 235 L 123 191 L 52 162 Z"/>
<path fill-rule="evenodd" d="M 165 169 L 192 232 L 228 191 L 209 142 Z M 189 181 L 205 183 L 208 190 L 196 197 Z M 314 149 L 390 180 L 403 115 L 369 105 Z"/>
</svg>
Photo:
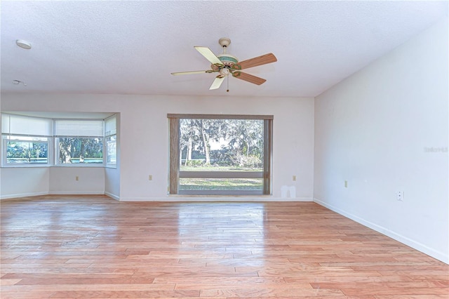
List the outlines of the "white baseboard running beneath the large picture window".
<svg viewBox="0 0 449 299">
<path fill-rule="evenodd" d="M 120 197 L 120 201 L 166 201 L 166 202 L 270 202 L 270 201 L 313 201 L 311 197 L 269 197 L 269 196 L 254 196 L 254 197 L 195 197 L 192 195 L 168 195 L 166 197 Z"/>
</svg>

